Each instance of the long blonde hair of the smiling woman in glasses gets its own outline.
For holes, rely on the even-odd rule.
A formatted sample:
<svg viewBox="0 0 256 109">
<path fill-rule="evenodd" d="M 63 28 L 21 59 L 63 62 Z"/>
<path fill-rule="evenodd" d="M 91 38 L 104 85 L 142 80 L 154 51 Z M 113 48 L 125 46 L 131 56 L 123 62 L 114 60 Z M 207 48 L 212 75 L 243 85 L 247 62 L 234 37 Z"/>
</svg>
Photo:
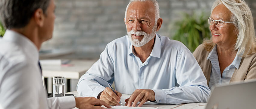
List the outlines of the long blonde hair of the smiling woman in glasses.
<svg viewBox="0 0 256 109">
<path fill-rule="evenodd" d="M 238 31 L 236 44 L 234 50 L 239 50 L 238 54 L 242 54 L 244 57 L 247 54 L 256 52 L 256 37 L 254 32 L 253 17 L 251 10 L 245 1 L 242 0 L 216 0 L 211 7 L 211 13 L 218 5 L 225 5 L 232 13 L 230 21 L 236 27 L 235 31 Z M 234 31 L 234 32 L 235 32 Z M 211 51 L 215 46 L 215 43 L 210 40 L 203 41 L 203 46 L 207 51 Z"/>
</svg>

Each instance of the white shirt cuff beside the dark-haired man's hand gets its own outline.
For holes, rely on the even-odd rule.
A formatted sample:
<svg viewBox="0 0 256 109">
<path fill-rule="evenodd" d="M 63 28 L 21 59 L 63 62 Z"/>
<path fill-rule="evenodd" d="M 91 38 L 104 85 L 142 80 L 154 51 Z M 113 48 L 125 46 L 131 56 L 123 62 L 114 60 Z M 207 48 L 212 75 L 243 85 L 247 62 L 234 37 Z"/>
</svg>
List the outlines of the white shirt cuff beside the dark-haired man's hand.
<svg viewBox="0 0 256 109">
<path fill-rule="evenodd" d="M 63 96 L 59 97 L 60 106 L 64 109 L 72 109 L 76 107 L 76 100 L 74 96 Z"/>
</svg>

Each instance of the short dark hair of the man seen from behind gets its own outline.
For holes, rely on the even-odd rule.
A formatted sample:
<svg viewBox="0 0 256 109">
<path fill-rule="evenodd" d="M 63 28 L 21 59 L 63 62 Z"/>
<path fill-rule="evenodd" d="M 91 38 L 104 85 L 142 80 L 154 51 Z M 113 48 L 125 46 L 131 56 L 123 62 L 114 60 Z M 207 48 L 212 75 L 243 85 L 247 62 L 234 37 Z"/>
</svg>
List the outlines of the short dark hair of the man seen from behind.
<svg viewBox="0 0 256 109">
<path fill-rule="evenodd" d="M 7 29 L 25 27 L 41 8 L 46 15 L 50 0 L 0 0 L 0 16 Z"/>
</svg>

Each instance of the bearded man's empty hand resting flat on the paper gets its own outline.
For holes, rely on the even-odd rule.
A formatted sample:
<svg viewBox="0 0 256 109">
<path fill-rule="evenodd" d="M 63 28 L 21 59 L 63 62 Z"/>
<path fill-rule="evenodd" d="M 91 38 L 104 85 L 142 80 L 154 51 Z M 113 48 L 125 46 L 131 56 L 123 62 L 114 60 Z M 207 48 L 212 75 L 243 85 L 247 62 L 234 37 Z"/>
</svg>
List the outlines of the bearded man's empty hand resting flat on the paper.
<svg viewBox="0 0 256 109">
<path fill-rule="evenodd" d="M 150 89 L 136 89 L 133 94 L 130 96 L 130 98 L 125 100 L 126 106 L 136 106 L 138 102 L 138 107 L 142 106 L 147 101 L 155 101 L 155 92 Z M 132 105 L 133 102 L 133 105 Z"/>
</svg>

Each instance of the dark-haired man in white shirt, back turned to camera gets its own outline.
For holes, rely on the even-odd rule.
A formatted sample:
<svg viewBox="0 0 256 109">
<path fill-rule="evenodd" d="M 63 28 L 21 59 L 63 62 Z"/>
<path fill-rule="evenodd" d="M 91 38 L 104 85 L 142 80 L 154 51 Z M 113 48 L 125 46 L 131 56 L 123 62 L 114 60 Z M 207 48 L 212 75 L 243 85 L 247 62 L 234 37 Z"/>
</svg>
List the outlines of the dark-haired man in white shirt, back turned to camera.
<svg viewBox="0 0 256 109">
<path fill-rule="evenodd" d="M 47 99 L 38 51 L 52 38 L 54 11 L 54 0 L 0 0 L 1 19 L 7 28 L 0 39 L 0 104 L 4 109 L 111 108 L 94 97 Z"/>
</svg>

